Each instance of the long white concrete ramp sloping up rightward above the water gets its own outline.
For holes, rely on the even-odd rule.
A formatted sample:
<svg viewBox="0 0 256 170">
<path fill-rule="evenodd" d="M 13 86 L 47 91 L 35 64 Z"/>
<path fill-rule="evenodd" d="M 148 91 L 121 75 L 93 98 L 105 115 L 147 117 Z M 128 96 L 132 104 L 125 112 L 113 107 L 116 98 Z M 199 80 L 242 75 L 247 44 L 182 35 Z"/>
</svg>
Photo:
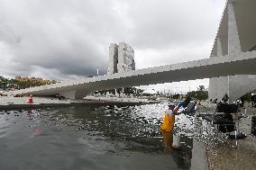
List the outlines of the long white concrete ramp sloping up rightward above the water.
<svg viewBox="0 0 256 170">
<path fill-rule="evenodd" d="M 200 78 L 256 74 L 256 51 L 206 58 L 162 67 L 150 67 L 107 76 L 27 88 L 6 94 L 53 95 L 61 94 L 71 99 L 81 99 L 96 90 L 126 86 L 152 85 Z M 240 69 L 237 69 L 239 67 Z"/>
</svg>

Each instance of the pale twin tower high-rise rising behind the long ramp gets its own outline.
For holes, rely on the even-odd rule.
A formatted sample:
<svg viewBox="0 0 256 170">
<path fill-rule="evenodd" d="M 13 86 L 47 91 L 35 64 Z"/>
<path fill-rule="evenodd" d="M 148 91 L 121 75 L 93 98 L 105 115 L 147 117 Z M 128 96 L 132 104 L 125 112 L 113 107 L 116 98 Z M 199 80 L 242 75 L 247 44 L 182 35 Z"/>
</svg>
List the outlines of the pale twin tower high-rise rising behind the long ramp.
<svg viewBox="0 0 256 170">
<path fill-rule="evenodd" d="M 107 75 L 135 70 L 134 50 L 127 43 L 109 46 L 109 59 Z"/>
</svg>

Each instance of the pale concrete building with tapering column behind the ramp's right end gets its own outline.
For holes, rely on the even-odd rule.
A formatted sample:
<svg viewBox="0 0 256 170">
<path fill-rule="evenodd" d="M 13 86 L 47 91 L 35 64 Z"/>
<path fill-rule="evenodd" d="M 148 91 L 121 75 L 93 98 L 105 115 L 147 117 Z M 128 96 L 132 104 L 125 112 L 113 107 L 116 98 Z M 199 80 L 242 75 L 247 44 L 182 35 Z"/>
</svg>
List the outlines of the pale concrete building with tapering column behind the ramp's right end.
<svg viewBox="0 0 256 170">
<path fill-rule="evenodd" d="M 256 49 L 256 1 L 228 0 L 216 35 L 211 58 L 242 54 Z M 255 65 L 256 67 L 256 65 Z M 237 67 L 241 69 L 241 67 Z M 209 99 L 219 101 L 229 94 L 230 102 L 256 89 L 251 75 L 220 76 L 209 82 Z"/>
</svg>

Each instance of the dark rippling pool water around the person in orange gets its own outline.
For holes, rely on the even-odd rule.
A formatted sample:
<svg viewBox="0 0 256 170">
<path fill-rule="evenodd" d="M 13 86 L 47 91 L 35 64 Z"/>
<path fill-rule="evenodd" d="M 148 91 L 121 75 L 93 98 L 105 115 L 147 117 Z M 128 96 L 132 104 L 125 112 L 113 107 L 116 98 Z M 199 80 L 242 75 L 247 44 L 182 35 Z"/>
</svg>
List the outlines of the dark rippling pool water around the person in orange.
<svg viewBox="0 0 256 170">
<path fill-rule="evenodd" d="M 9 158 L 16 161 L 16 169 L 18 165 L 26 169 L 33 169 L 28 165 L 48 169 L 79 169 L 85 165 L 88 169 L 189 169 L 192 123 L 185 115 L 177 116 L 175 135 L 180 136 L 181 149 L 173 149 L 173 134 L 160 131 L 163 107 L 160 103 L 1 112 L 0 148 L 15 146 L 1 151 L 15 154 L 9 154 Z M 3 136 L 6 119 L 11 121 L 5 125 L 10 134 Z M 163 153 L 171 157 L 162 157 Z M 59 158 L 63 159 L 61 163 Z M 0 169 L 10 167 L 2 163 Z"/>
</svg>

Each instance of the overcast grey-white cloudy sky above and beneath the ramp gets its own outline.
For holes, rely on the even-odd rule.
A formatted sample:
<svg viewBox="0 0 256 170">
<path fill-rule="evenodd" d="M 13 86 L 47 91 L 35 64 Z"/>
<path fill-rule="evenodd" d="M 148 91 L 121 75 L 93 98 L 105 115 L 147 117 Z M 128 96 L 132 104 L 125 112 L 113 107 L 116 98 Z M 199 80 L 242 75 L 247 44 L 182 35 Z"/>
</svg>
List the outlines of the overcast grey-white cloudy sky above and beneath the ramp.
<svg viewBox="0 0 256 170">
<path fill-rule="evenodd" d="M 125 41 L 136 68 L 209 58 L 225 0 L 0 0 L 0 75 L 104 75 Z M 193 90 L 208 80 L 189 81 Z M 151 85 L 186 91 L 187 82 Z"/>
</svg>

